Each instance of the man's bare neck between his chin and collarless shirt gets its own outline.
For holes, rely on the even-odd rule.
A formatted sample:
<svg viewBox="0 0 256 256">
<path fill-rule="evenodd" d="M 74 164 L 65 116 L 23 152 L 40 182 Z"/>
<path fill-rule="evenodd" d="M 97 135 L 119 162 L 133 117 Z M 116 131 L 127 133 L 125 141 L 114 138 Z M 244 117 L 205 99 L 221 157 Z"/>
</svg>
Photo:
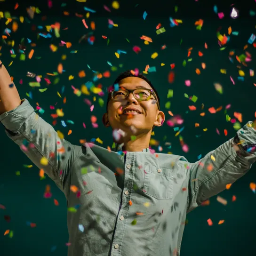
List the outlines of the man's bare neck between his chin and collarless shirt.
<svg viewBox="0 0 256 256">
<path fill-rule="evenodd" d="M 144 148 L 149 147 L 151 132 L 150 130 L 147 134 L 136 135 L 136 140 L 131 140 L 131 136 L 125 137 L 122 141 L 124 144 L 122 150 L 128 152 L 142 152 Z"/>
</svg>

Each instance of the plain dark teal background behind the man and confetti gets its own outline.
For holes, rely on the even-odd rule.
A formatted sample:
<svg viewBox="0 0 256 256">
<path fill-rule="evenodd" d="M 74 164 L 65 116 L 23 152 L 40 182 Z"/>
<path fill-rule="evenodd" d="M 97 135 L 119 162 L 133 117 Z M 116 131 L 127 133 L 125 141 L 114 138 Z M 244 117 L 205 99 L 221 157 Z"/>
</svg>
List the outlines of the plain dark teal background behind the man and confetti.
<svg viewBox="0 0 256 256">
<path fill-rule="evenodd" d="M 61 1 L 53 1 L 53 8 L 48 9 L 47 1 L 19 2 L 19 8 L 14 10 L 16 1 L 0 2 L 0 11 L 8 10 L 13 17 L 23 15 L 27 17 L 24 24 L 18 21 L 19 29 L 16 33 L 11 33 L 8 40 L 15 40 L 15 46 L 12 48 L 2 41 L 2 49 L 0 59 L 6 67 L 13 60 L 13 64 L 8 67 L 8 71 L 14 77 L 16 87 L 20 92 L 21 98 L 27 98 L 26 93 L 32 93 L 32 99 L 29 99 L 33 107 L 39 103 L 45 112 L 40 114 L 44 120 L 52 123 L 53 119 L 50 114 L 55 113 L 50 110 L 50 105 L 56 108 L 63 108 L 64 117 L 57 119 L 56 130 L 64 133 L 65 139 L 73 144 L 79 144 L 80 139 L 91 141 L 94 138 L 103 140 L 103 146 L 112 146 L 112 133 L 110 128 L 104 128 L 101 123 L 101 117 L 104 113 L 105 106 L 100 107 L 98 104 L 99 96 L 91 93 L 90 96 L 82 95 L 80 97 L 73 94 L 71 86 L 75 88 L 81 87 L 83 83 L 92 81 L 94 72 L 111 72 L 110 78 L 102 78 L 95 85 L 102 84 L 104 92 L 115 80 L 116 76 L 127 69 L 138 68 L 141 72 L 145 66 L 155 66 L 157 72 L 152 72 L 147 77 L 157 88 L 161 98 L 161 109 L 166 113 L 166 120 L 169 119 L 168 109 L 165 109 L 165 103 L 171 101 L 170 111 L 180 115 L 184 119 L 184 123 L 179 126 L 184 127 L 181 136 L 184 142 L 189 146 L 189 152 L 182 151 L 179 137 L 175 137 L 176 132 L 173 128 L 168 127 L 166 123 L 161 128 L 156 128 L 155 138 L 163 147 L 163 152 L 172 152 L 177 155 L 184 155 L 190 162 L 198 160 L 198 156 L 202 157 L 211 150 L 214 150 L 220 144 L 224 143 L 232 136 L 235 136 L 235 129 L 231 122 L 226 121 L 226 113 L 234 118 L 234 112 L 242 113 L 243 120 L 241 125 L 245 125 L 249 120 L 255 119 L 256 111 L 256 83 L 255 77 L 249 76 L 249 68 L 255 68 L 255 52 L 256 49 L 252 45 L 248 45 L 246 51 L 252 55 L 252 62 L 248 63 L 248 67 L 239 64 L 235 56 L 233 56 L 234 64 L 228 58 L 231 50 L 235 51 L 235 55 L 245 53 L 243 47 L 251 33 L 255 33 L 255 16 L 249 15 L 249 10 L 256 11 L 256 3 L 254 0 L 241 1 L 235 6 L 240 10 L 240 17 L 232 20 L 229 17 L 231 11 L 230 5 L 234 2 L 225 1 L 176 1 L 167 3 L 167 1 L 119 1 L 120 9 L 114 10 L 111 7 L 111 1 L 87 1 L 85 3 L 78 1 L 64 1 L 66 7 L 61 7 Z M 107 5 L 112 9 L 111 13 L 104 10 L 103 5 Z M 136 7 L 136 4 L 138 6 Z M 225 17 L 220 20 L 213 11 L 213 6 L 217 5 L 219 12 L 224 12 Z M 25 8 L 38 6 L 41 10 L 40 14 L 36 14 L 31 20 L 26 15 Z M 174 7 L 178 6 L 175 13 Z M 85 18 L 86 11 L 83 7 L 96 10 L 95 14 L 90 14 L 86 19 L 89 26 L 87 30 L 82 24 L 82 18 L 75 16 L 75 13 L 83 15 Z M 69 11 L 70 16 L 64 16 L 63 11 Z M 143 13 L 146 11 L 148 16 L 143 19 Z M 45 21 L 42 17 L 47 16 Z M 171 28 L 169 25 L 169 17 L 183 20 L 183 24 Z M 112 19 L 118 27 L 108 28 L 108 18 Z M 201 31 L 196 30 L 194 25 L 198 19 L 203 19 L 204 24 Z M 29 22 L 28 22 L 29 21 Z M 96 40 L 94 45 L 89 45 L 87 41 L 79 43 L 82 35 L 91 32 L 90 21 L 95 21 L 96 30 L 93 32 Z M 1 32 L 6 27 L 6 19 L 1 19 Z M 46 32 L 36 29 L 32 31 L 32 27 L 61 24 L 60 35 L 57 39 L 52 34 L 51 39 L 39 37 L 39 32 Z M 166 32 L 157 35 L 156 26 L 161 23 L 165 27 Z M 231 35 L 230 41 L 226 48 L 220 51 L 217 43 L 216 31 L 219 29 L 221 34 L 227 35 L 228 27 L 232 27 L 232 31 L 238 31 L 239 35 Z M 63 30 L 68 27 L 68 30 Z M 109 45 L 102 35 L 110 39 Z M 144 45 L 144 41 L 140 39 L 142 35 L 151 37 L 153 43 Z M 18 45 L 21 39 L 25 39 L 26 60 L 19 60 L 20 53 Z M 28 59 L 28 53 L 32 49 L 27 38 L 36 43 L 35 53 L 32 59 Z M 130 41 L 130 43 L 126 40 Z M 182 39 L 182 43 L 180 41 Z M 72 42 L 72 48 L 59 47 L 60 40 Z M 204 43 L 208 44 L 208 49 L 204 48 Z M 55 44 L 58 50 L 53 53 L 49 45 Z M 141 47 L 142 51 L 136 54 L 133 46 Z M 167 48 L 161 50 L 161 46 L 166 45 Z M 184 67 L 183 61 L 188 60 L 188 48 L 192 49 L 191 62 L 187 62 Z M 13 49 L 16 58 L 10 56 L 10 50 Z M 127 54 L 120 54 L 120 59 L 116 58 L 114 53 L 118 50 L 127 51 Z M 77 50 L 76 54 L 70 53 Z M 203 52 L 203 56 L 198 56 L 198 51 Z M 158 52 L 159 56 L 152 59 L 151 55 Z M 65 61 L 61 60 L 61 56 L 67 55 Z M 111 66 L 107 64 L 111 62 L 117 67 L 117 71 L 112 71 Z M 206 64 L 206 69 L 201 68 L 201 63 Z M 57 71 L 57 65 L 62 63 L 64 72 L 58 75 L 60 78 L 57 84 L 53 84 L 54 77 L 46 75 Z M 160 66 L 165 63 L 165 66 Z M 173 84 L 168 83 L 168 72 L 170 64 L 175 63 L 175 81 Z M 122 64 L 122 68 L 120 67 Z M 91 70 L 88 68 L 89 65 Z M 246 73 L 245 80 L 238 80 L 238 66 Z M 200 75 L 195 73 L 195 69 L 199 68 Z M 222 74 L 220 69 L 226 69 L 227 74 Z M 78 72 L 85 70 L 86 77 L 79 78 Z M 93 70 L 93 71 L 92 71 Z M 35 81 L 26 77 L 27 72 L 33 72 L 42 75 L 43 78 L 51 80 L 52 84 L 47 85 L 42 79 L 40 88 L 48 88 L 47 91 L 40 93 L 38 88 L 31 88 L 28 83 Z M 74 76 L 73 80 L 68 80 L 70 75 Z M 235 80 L 232 84 L 230 76 Z M 23 84 L 19 84 L 19 80 L 23 79 Z M 184 85 L 184 80 L 191 80 L 191 87 Z M 223 95 L 220 95 L 214 88 L 214 82 L 219 82 L 223 86 Z M 64 87 L 64 92 L 62 89 Z M 167 99 L 168 89 L 173 89 L 173 98 Z M 61 93 L 62 99 L 57 96 L 57 91 Z M 184 93 L 189 96 L 197 96 L 198 100 L 193 103 L 184 97 Z M 63 104 L 63 98 L 66 96 L 67 103 Z M 93 96 L 96 96 L 96 102 L 93 102 Z M 84 103 L 87 98 L 93 102 L 95 108 L 90 112 L 90 108 Z M 106 95 L 102 97 L 106 102 Z M 201 105 L 204 104 L 204 110 Z M 231 108 L 225 113 L 224 109 L 227 104 L 232 104 Z M 188 106 L 195 105 L 196 111 L 190 111 Z M 208 108 L 223 109 L 216 114 L 208 112 Z M 204 117 L 200 116 L 201 112 L 206 112 Z M 95 115 L 99 128 L 92 128 L 90 117 Z M 67 127 L 61 125 L 64 120 Z M 67 120 L 72 120 L 74 125 L 68 124 Z M 86 124 L 86 129 L 82 123 Z M 200 123 L 200 127 L 195 128 L 195 123 Z M 208 128 L 207 131 L 203 131 Z M 216 133 L 219 129 L 220 135 Z M 68 130 L 72 129 L 72 134 L 67 136 Z M 228 135 L 224 135 L 224 129 L 227 129 Z M 0 256 L 46 256 L 67 254 L 65 243 L 68 242 L 68 232 L 66 224 L 66 201 L 64 195 L 56 187 L 56 185 L 48 178 L 40 180 L 39 169 L 26 158 L 20 151 L 19 147 L 14 144 L 6 135 L 4 127 L 0 126 L 0 204 L 6 209 L 0 209 Z M 165 142 L 171 143 L 171 149 L 165 145 Z M 97 143 L 98 144 L 98 143 Z M 158 152 L 157 147 L 153 147 Z M 32 168 L 24 168 L 23 165 L 33 165 Z M 20 171 L 20 176 L 16 176 L 16 171 Z M 226 206 L 217 202 L 216 197 L 210 199 L 209 206 L 203 206 L 195 209 L 187 216 L 188 224 L 185 228 L 184 238 L 181 249 L 181 256 L 253 256 L 255 255 L 255 194 L 250 190 L 249 184 L 256 182 L 256 167 L 253 166 L 250 172 L 242 177 L 239 181 L 232 185 L 230 190 L 225 190 L 220 195 L 228 201 Z M 51 186 L 53 194 L 51 199 L 43 197 L 46 185 Z M 237 200 L 232 202 L 232 196 L 235 195 Z M 58 200 L 59 206 L 54 205 L 54 199 Z M 6 221 L 9 216 L 10 221 Z M 211 218 L 213 226 L 208 226 L 207 220 Z M 224 224 L 218 225 L 219 220 L 225 220 Z M 27 222 L 36 224 L 35 228 L 27 225 Z M 3 236 L 4 232 L 10 229 L 14 233 L 12 238 L 9 235 Z"/>
</svg>

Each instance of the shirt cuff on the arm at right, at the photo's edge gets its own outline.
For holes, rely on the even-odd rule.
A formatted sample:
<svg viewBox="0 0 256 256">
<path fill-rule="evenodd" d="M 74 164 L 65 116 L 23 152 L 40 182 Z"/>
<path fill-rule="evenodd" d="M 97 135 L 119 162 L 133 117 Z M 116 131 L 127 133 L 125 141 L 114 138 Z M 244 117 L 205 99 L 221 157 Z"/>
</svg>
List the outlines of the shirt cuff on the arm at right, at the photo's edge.
<svg viewBox="0 0 256 256">
<path fill-rule="evenodd" d="M 248 153 L 256 152 L 256 130 L 252 127 L 252 123 L 252 121 L 248 121 L 248 123 L 237 132 L 242 149 Z"/>
</svg>

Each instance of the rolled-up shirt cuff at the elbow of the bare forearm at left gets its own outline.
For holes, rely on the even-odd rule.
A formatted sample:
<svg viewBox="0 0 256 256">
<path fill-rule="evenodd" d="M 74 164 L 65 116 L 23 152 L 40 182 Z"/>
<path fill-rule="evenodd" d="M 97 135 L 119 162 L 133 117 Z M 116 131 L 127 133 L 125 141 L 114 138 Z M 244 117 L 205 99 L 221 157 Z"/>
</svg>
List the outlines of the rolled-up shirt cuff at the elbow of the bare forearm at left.
<svg viewBox="0 0 256 256">
<path fill-rule="evenodd" d="M 30 105 L 29 101 L 27 99 L 23 99 L 21 104 L 15 109 L 0 115 L 0 123 L 2 123 L 7 130 L 13 133 L 17 133 L 17 131 L 23 125 L 24 121 L 34 111 L 35 110 Z"/>
</svg>

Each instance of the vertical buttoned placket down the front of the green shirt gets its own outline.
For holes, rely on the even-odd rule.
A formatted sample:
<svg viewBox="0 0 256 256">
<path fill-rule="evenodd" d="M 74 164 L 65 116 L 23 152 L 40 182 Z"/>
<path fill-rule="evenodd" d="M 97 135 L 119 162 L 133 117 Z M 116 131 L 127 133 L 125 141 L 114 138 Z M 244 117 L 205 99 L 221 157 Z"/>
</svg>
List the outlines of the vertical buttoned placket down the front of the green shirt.
<svg viewBox="0 0 256 256">
<path fill-rule="evenodd" d="M 124 187 L 122 191 L 122 200 L 120 203 L 120 208 L 117 216 L 116 229 L 114 231 L 114 237 L 112 241 L 112 252 L 111 256 L 122 255 L 122 242 L 125 234 L 125 227 L 128 218 L 130 195 L 133 186 L 133 159 L 134 153 L 127 152 L 124 158 L 125 169 L 124 169 Z M 123 254 L 124 255 L 124 254 Z"/>
</svg>

